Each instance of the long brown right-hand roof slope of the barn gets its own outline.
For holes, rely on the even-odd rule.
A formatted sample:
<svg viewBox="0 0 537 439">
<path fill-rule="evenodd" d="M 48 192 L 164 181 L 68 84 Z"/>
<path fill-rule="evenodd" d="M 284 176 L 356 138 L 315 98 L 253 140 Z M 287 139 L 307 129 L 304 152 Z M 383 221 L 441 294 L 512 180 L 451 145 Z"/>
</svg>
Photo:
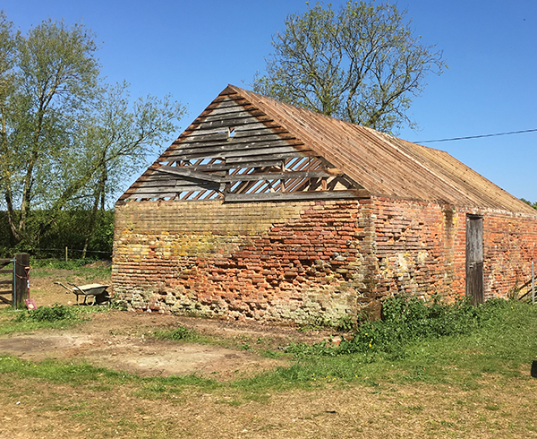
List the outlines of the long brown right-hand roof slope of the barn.
<svg viewBox="0 0 537 439">
<path fill-rule="evenodd" d="M 268 116 L 275 118 L 280 125 L 285 126 L 287 130 L 301 141 L 309 143 L 312 150 L 323 154 L 325 157 L 330 155 L 331 157 L 327 157 L 327 159 L 334 162 L 333 164 L 337 168 L 341 168 L 347 175 L 350 172 L 352 173 L 351 168 L 354 163 L 349 164 L 348 161 L 352 161 L 351 156 L 353 154 L 364 154 L 364 160 L 367 160 L 368 157 L 371 157 L 371 159 L 377 157 L 377 160 L 380 160 L 379 157 L 382 154 L 388 154 L 392 158 L 388 160 L 389 162 L 393 162 L 396 159 L 396 168 L 390 169 L 391 174 L 396 175 L 402 172 L 398 181 L 402 182 L 406 179 L 408 185 L 401 185 L 401 183 L 397 182 L 397 178 L 391 183 L 387 182 L 389 178 L 388 169 L 385 169 L 379 174 L 381 167 L 375 166 L 375 163 L 371 163 L 373 166 L 369 166 L 369 168 L 367 166 L 362 167 L 363 170 L 366 168 L 369 169 L 369 173 L 371 174 L 372 179 L 369 179 L 369 185 L 363 181 L 365 178 L 361 180 L 355 172 L 353 175 L 350 175 L 354 181 L 370 190 L 371 194 L 387 194 L 392 192 L 397 196 L 420 198 L 427 201 L 448 202 L 474 207 L 480 207 L 481 205 L 482 207 L 496 207 L 504 210 L 507 209 L 508 211 L 512 211 L 513 209 L 516 211 L 526 211 L 524 206 L 521 205 L 522 202 L 519 202 L 514 195 L 508 194 L 507 191 L 501 189 L 498 185 L 494 185 L 490 180 L 481 176 L 472 168 L 466 167 L 460 160 L 453 158 L 447 153 L 447 151 L 405 141 L 396 135 L 379 132 L 371 127 L 356 125 L 307 108 L 297 107 L 264 96 L 255 91 L 245 90 L 234 85 L 230 85 L 229 87 L 236 93 L 239 93 L 244 99 L 250 101 L 253 106 L 266 114 L 268 113 Z M 271 114 L 271 110 L 273 114 Z M 285 113 L 285 115 L 282 115 L 282 113 Z M 288 117 L 288 120 L 282 121 L 282 116 Z M 320 125 L 324 126 L 321 127 Z M 325 129 L 323 130 L 323 128 Z M 367 137 L 372 138 L 369 140 L 362 138 L 361 142 L 361 133 L 362 136 L 367 133 Z M 389 145 L 388 150 L 381 147 L 382 143 L 386 146 Z M 408 146 L 405 147 L 405 145 Z M 342 151 L 345 146 L 349 151 Z M 364 151 L 363 148 L 369 152 Z M 380 148 L 379 151 L 371 152 L 378 148 Z M 410 151 L 405 151 L 406 148 L 410 148 Z M 421 151 L 425 155 L 422 155 Z M 338 159 L 335 159 L 335 157 Z M 388 159 L 388 156 L 385 156 L 385 159 Z M 456 162 L 449 167 L 447 164 L 442 165 L 442 162 L 450 161 L 451 159 L 456 160 Z M 411 163 L 413 166 L 409 166 Z M 450 172 L 448 168 L 453 168 L 457 165 L 471 169 L 471 178 L 463 179 L 462 176 L 456 176 L 456 174 L 453 174 L 453 178 L 448 178 L 447 174 Z M 421 169 L 421 171 L 418 169 Z M 378 175 L 375 176 L 373 174 Z M 475 181 L 473 182 L 472 179 Z M 435 181 L 437 182 L 436 185 Z M 459 182 L 464 185 L 460 185 Z M 491 192 L 498 194 L 501 191 L 501 194 L 504 196 L 488 195 L 486 188 L 483 187 L 484 182 L 491 185 Z M 377 190 L 373 190 L 373 186 L 376 186 Z M 444 189 L 442 189 L 442 186 Z M 470 192 L 468 191 L 469 189 L 471 189 Z"/>
</svg>

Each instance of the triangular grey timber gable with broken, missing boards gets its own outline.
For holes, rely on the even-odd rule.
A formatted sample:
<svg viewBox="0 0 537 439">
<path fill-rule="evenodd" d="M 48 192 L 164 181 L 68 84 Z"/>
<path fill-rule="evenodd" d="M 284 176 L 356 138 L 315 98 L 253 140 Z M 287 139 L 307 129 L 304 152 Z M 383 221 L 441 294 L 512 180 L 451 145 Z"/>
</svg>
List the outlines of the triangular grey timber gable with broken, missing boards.
<svg viewBox="0 0 537 439">
<path fill-rule="evenodd" d="M 361 185 L 281 123 L 242 96 L 223 92 L 119 202 L 270 202 L 368 196 Z"/>
</svg>

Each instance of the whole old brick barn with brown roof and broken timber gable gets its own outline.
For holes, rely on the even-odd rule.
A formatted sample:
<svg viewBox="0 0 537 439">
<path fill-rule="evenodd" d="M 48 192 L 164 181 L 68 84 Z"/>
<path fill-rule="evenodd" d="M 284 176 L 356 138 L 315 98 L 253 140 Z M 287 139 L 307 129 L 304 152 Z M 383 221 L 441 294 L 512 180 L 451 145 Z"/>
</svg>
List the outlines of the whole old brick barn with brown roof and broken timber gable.
<svg viewBox="0 0 537 439">
<path fill-rule="evenodd" d="M 121 196 L 136 309 L 335 322 L 400 293 L 506 297 L 537 211 L 444 151 L 228 86 Z"/>
</svg>

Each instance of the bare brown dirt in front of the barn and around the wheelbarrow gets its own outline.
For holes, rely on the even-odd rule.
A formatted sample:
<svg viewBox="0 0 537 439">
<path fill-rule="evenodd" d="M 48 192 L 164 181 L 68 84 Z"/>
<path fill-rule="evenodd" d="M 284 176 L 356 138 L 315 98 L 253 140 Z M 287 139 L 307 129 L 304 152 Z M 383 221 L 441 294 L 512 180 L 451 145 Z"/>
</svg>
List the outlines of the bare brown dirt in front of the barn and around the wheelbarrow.
<svg viewBox="0 0 537 439">
<path fill-rule="evenodd" d="M 38 306 L 76 303 L 74 294 L 54 281 L 109 284 L 72 271 L 47 270 L 30 280 L 30 297 Z M 157 340 L 150 333 L 185 326 L 219 340 L 217 345 Z M 296 328 L 177 317 L 156 313 L 109 311 L 90 314 L 90 321 L 67 330 L 36 331 L 0 338 L 0 352 L 31 361 L 46 358 L 87 361 L 140 375 L 201 374 L 221 380 L 259 373 L 286 365 L 286 359 L 261 357 L 252 348 L 278 349 L 291 342 L 313 342 L 328 331 L 301 332 Z"/>
</svg>

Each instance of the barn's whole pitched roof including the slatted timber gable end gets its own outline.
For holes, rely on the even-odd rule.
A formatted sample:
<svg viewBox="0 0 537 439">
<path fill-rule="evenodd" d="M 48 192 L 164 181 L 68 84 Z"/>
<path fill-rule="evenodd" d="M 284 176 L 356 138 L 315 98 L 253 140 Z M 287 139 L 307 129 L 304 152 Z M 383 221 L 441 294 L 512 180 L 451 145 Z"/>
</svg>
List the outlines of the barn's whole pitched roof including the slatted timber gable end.
<svg viewBox="0 0 537 439">
<path fill-rule="evenodd" d="M 309 164 L 304 165 L 299 157 L 309 157 Z M 293 162 L 293 158 L 299 161 Z M 320 161 L 313 164 L 311 158 Z M 190 161 L 181 161 L 187 159 Z M 267 161 L 270 159 L 287 161 L 276 169 L 274 166 L 270 168 Z M 233 162 L 243 163 L 243 168 L 249 170 L 237 170 L 237 165 L 234 165 L 231 171 L 234 176 L 229 176 L 229 163 Z M 175 163 L 179 168 L 166 163 Z M 189 166 L 183 167 L 182 164 Z M 253 165 L 260 165 L 260 168 Z M 294 173 L 283 174 L 289 167 Z M 225 168 L 226 175 L 221 172 Z M 287 180 L 293 182 L 291 184 L 282 183 L 276 191 L 270 183 L 263 188 L 260 184 L 256 188 L 252 180 L 250 183 L 237 183 L 238 176 L 248 174 L 243 178 L 250 179 L 253 176 L 267 177 L 269 172 L 276 172 L 275 169 L 278 172 L 274 181 L 282 176 L 296 178 Z M 170 184 L 167 184 L 169 189 L 166 190 L 158 186 L 158 181 L 165 179 L 163 174 L 168 181 L 170 176 L 174 176 L 173 189 Z M 328 185 L 328 189 L 326 184 L 311 185 L 311 180 L 321 174 L 331 176 L 335 183 Z M 306 179 L 310 181 L 309 186 L 304 183 Z M 287 187 L 291 188 L 291 192 L 300 190 L 306 191 L 305 194 L 322 192 L 323 189 L 327 191 L 331 187 L 332 192 L 336 191 L 340 196 L 387 196 L 535 213 L 533 208 L 445 151 L 406 142 L 233 85 L 228 85 L 218 95 L 119 201 L 158 198 L 158 195 L 165 194 L 172 197 L 177 188 L 189 190 L 188 185 L 184 186 L 185 182 L 195 186 L 189 196 L 196 191 L 197 194 L 205 191 L 205 198 L 227 194 L 225 198 L 229 201 L 240 201 L 246 194 L 250 194 L 250 200 L 285 199 L 285 196 L 291 196 L 282 194 Z M 148 185 L 153 187 L 153 192 Z M 236 199 L 237 196 L 239 199 Z"/>
</svg>

